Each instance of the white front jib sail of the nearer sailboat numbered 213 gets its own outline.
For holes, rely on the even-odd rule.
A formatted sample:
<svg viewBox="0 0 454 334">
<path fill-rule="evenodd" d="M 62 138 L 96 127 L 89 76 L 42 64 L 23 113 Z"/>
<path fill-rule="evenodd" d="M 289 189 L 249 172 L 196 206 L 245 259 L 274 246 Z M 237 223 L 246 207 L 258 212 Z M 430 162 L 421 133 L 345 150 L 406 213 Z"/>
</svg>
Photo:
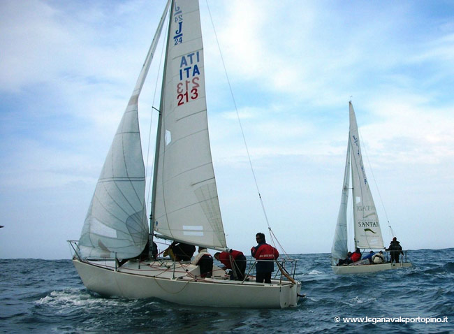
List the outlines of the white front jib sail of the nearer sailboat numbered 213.
<svg viewBox="0 0 454 334">
<path fill-rule="evenodd" d="M 169 3 L 140 71 L 99 176 L 80 235 L 82 257 L 138 256 L 148 241 L 145 167 L 140 143 L 138 97 L 162 31 Z"/>
</svg>

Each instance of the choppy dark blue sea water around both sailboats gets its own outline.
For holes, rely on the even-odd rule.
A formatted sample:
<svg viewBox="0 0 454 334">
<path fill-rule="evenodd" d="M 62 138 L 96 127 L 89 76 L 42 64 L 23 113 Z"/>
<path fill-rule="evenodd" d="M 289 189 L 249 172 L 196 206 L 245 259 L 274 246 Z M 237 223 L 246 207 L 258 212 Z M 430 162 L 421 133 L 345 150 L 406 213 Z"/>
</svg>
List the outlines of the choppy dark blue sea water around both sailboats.
<svg viewBox="0 0 454 334">
<path fill-rule="evenodd" d="M 0 333 L 454 333 L 454 249 L 408 254 L 413 268 L 361 275 L 295 255 L 306 297 L 284 310 L 103 298 L 70 260 L 0 259 Z"/>
</svg>

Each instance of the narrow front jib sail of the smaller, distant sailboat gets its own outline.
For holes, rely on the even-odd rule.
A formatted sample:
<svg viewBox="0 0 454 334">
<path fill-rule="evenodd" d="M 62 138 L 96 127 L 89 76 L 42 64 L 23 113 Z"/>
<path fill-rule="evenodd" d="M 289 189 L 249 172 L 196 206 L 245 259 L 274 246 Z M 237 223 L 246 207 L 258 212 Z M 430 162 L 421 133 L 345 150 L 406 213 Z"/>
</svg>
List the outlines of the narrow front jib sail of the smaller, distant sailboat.
<svg viewBox="0 0 454 334">
<path fill-rule="evenodd" d="M 346 259 L 348 252 L 347 245 L 347 204 L 349 202 L 349 184 L 350 184 L 350 140 L 347 144 L 347 154 L 344 170 L 344 182 L 342 184 L 342 197 L 337 215 L 336 231 L 331 247 L 331 259 L 333 264 L 337 264 L 339 259 Z"/>
</svg>

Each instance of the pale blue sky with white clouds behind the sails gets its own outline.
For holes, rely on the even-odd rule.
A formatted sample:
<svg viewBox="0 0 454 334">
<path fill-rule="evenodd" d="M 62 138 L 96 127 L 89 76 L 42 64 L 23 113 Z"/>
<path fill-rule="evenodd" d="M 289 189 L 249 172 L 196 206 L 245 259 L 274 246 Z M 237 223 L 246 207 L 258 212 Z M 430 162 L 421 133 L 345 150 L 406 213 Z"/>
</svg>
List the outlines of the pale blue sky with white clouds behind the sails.
<svg viewBox="0 0 454 334">
<path fill-rule="evenodd" d="M 71 259 L 164 6 L 0 0 L 1 259 Z M 249 254 L 269 224 L 288 254 L 330 252 L 350 100 L 385 244 L 389 221 L 404 249 L 454 247 L 452 1 L 200 0 L 200 15 L 228 247 Z"/>
</svg>

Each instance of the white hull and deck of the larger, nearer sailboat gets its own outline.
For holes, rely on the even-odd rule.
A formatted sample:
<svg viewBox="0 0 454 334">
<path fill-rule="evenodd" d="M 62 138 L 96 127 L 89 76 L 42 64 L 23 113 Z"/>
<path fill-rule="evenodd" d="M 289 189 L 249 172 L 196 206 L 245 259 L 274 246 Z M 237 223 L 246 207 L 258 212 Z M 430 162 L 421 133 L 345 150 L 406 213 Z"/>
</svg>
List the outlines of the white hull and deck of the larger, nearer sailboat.
<svg viewBox="0 0 454 334">
<path fill-rule="evenodd" d="M 198 266 L 177 264 L 176 278 L 173 278 L 173 262 L 170 261 L 127 262 L 117 271 L 114 261 L 73 259 L 73 263 L 87 289 L 103 296 L 159 298 L 184 305 L 284 308 L 297 305 L 301 289 L 300 282 L 230 281 L 224 270 L 215 266 L 212 278 L 197 278 Z"/>
</svg>

